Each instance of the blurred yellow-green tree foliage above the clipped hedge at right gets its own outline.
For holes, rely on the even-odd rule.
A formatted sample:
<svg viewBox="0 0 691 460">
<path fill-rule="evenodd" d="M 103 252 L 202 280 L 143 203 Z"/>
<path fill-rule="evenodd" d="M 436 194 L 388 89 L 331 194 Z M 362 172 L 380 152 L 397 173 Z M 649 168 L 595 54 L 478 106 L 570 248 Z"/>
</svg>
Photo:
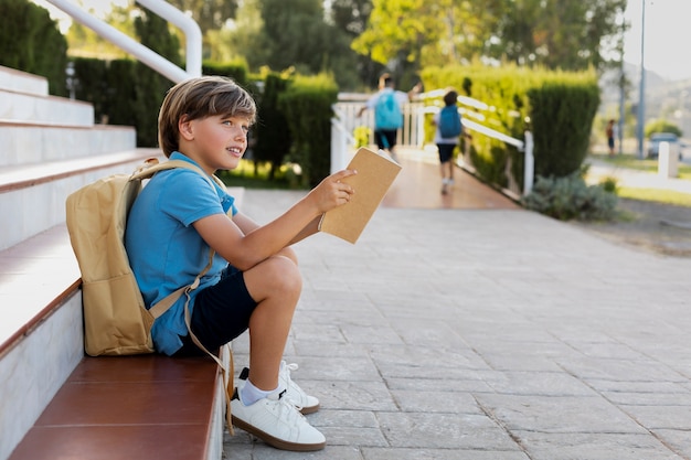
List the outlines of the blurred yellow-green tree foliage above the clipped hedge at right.
<svg viewBox="0 0 691 460">
<path fill-rule="evenodd" d="M 620 32 L 625 8 L 626 0 L 374 0 L 352 46 L 394 67 L 493 60 L 602 68 L 600 43 Z"/>
</svg>

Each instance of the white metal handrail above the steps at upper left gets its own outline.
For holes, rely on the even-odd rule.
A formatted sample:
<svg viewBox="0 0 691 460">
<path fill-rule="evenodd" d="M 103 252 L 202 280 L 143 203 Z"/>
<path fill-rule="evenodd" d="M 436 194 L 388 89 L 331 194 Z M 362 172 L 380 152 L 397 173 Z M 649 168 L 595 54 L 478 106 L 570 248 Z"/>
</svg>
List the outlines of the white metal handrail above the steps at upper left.
<svg viewBox="0 0 691 460">
<path fill-rule="evenodd" d="M 137 0 L 152 12 L 179 26 L 185 35 L 187 71 L 180 68 L 158 53 L 138 43 L 106 22 L 93 17 L 70 0 L 47 0 L 70 14 L 75 21 L 134 55 L 143 64 L 153 68 L 174 83 L 180 83 L 202 74 L 202 32 L 194 20 L 163 0 Z"/>
</svg>

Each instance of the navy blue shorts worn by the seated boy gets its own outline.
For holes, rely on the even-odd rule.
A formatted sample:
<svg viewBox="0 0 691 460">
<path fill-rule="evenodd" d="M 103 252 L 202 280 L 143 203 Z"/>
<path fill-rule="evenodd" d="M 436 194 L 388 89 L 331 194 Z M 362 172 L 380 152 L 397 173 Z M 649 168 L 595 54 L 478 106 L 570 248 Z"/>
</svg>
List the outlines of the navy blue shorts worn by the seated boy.
<svg viewBox="0 0 691 460">
<path fill-rule="evenodd" d="M 249 317 L 256 307 L 257 302 L 245 286 L 243 272 L 228 265 L 216 285 L 196 295 L 192 310 L 192 332 L 206 350 L 213 352 L 247 330 Z M 182 349 L 176 352 L 176 356 L 204 354 L 189 334 L 180 339 Z"/>
</svg>

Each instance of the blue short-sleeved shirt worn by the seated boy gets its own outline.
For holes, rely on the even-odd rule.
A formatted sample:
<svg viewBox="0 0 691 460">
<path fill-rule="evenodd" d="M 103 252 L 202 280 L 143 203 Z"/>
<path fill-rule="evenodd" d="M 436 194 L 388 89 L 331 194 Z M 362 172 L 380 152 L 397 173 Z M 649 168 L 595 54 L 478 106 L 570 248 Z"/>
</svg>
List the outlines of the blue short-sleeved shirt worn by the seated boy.
<svg viewBox="0 0 691 460">
<path fill-rule="evenodd" d="M 180 152 L 171 160 L 194 161 Z M 199 167 L 199 164 L 196 164 Z M 214 214 L 233 210 L 235 199 L 225 190 L 198 172 L 176 168 L 158 172 L 135 200 L 127 218 L 125 247 L 147 308 L 171 292 L 194 281 L 209 263 L 209 245 L 192 224 Z M 194 297 L 219 282 L 227 261 L 214 256 L 212 268 L 204 275 L 198 289 L 190 293 L 190 309 Z M 187 335 L 182 296 L 166 313 L 153 322 L 151 336 L 156 349 L 168 355 L 182 346 L 180 335 Z"/>
</svg>

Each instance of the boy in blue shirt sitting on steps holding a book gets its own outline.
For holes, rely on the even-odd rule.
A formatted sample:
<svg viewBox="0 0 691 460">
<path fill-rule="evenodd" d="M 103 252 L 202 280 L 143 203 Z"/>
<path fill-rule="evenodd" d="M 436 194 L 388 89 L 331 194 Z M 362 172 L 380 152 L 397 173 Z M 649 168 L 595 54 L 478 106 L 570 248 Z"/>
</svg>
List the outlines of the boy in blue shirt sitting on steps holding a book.
<svg viewBox="0 0 691 460">
<path fill-rule="evenodd" d="M 254 100 L 234 82 L 191 78 L 171 88 L 161 105 L 159 143 L 166 157 L 189 161 L 209 175 L 232 170 L 247 148 L 255 116 Z M 301 290 L 289 246 L 315 234 L 326 211 L 350 201 L 353 190 L 340 180 L 354 173 L 326 178 L 285 214 L 259 226 L 237 211 L 222 188 L 212 188 L 194 171 L 171 169 L 149 181 L 129 214 L 127 253 L 148 307 L 190 284 L 208 264 L 210 247 L 215 250 L 212 268 L 190 292 L 191 330 L 208 350 L 249 330 L 249 371 L 231 402 L 233 424 L 277 448 L 326 445 L 299 413 L 300 406 L 316 410 L 318 399 L 305 395 L 281 362 Z M 161 353 L 195 353 L 184 300 L 153 323 L 151 335 Z"/>
</svg>

